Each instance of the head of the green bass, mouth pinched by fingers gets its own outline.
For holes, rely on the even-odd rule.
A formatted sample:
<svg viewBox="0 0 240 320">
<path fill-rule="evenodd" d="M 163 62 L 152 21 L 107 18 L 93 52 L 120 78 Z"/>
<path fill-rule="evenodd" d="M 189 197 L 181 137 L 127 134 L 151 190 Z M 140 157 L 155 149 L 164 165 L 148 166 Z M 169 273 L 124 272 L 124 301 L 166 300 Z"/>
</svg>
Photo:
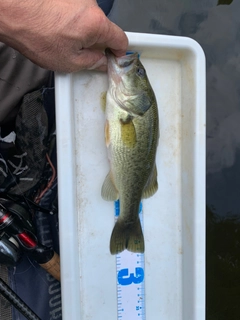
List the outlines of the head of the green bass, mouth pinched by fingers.
<svg viewBox="0 0 240 320">
<path fill-rule="evenodd" d="M 119 107 L 132 115 L 143 115 L 155 99 L 146 70 L 137 52 L 116 57 L 109 50 L 109 91 Z"/>
</svg>

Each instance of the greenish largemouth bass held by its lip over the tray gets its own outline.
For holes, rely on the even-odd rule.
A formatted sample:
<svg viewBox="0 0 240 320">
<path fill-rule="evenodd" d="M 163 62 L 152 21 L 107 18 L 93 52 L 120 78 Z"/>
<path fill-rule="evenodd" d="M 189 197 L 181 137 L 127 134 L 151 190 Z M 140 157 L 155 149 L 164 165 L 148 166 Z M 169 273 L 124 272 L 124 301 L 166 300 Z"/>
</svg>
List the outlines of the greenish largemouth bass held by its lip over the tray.
<svg viewBox="0 0 240 320">
<path fill-rule="evenodd" d="M 159 138 L 158 108 L 146 71 L 133 53 L 120 58 L 109 51 L 105 141 L 110 172 L 103 186 L 105 200 L 120 199 L 110 252 L 144 252 L 139 220 L 142 198 L 158 188 L 155 156 Z"/>
</svg>

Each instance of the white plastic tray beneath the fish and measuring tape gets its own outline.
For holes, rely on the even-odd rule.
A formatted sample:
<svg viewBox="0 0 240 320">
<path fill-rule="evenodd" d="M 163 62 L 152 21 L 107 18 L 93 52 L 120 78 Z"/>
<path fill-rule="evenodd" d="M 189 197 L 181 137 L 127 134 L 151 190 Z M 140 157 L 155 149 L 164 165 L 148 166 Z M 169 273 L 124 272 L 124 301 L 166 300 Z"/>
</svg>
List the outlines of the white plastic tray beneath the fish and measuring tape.
<svg viewBox="0 0 240 320">
<path fill-rule="evenodd" d="M 143 202 L 147 320 L 205 319 L 205 57 L 184 37 L 127 33 L 155 91 L 159 190 Z M 101 93 L 106 74 L 56 75 L 64 320 L 117 319 L 113 203 Z M 131 320 L 131 319 L 129 319 Z"/>
</svg>

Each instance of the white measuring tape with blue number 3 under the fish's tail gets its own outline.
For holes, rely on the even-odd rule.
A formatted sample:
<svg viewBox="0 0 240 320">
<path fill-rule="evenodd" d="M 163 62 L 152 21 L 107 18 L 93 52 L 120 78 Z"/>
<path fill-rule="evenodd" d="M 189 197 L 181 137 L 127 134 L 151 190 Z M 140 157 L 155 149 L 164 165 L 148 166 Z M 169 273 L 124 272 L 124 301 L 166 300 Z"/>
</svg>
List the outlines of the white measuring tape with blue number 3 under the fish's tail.
<svg viewBox="0 0 240 320">
<path fill-rule="evenodd" d="M 115 201 L 115 220 L 120 214 Z M 143 228 L 142 203 L 139 218 Z M 144 254 L 127 250 L 116 255 L 118 320 L 145 320 Z"/>
</svg>

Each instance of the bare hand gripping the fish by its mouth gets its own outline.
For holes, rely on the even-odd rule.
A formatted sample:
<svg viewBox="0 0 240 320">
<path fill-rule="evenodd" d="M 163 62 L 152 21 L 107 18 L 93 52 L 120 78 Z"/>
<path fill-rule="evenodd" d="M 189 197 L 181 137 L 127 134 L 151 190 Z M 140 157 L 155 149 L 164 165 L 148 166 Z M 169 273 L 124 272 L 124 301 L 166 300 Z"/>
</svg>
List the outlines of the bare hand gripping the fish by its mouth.
<svg viewBox="0 0 240 320">
<path fill-rule="evenodd" d="M 126 34 L 95 0 L 2 0 L 0 41 L 42 68 L 105 71 L 106 48 L 125 54 Z"/>
</svg>

